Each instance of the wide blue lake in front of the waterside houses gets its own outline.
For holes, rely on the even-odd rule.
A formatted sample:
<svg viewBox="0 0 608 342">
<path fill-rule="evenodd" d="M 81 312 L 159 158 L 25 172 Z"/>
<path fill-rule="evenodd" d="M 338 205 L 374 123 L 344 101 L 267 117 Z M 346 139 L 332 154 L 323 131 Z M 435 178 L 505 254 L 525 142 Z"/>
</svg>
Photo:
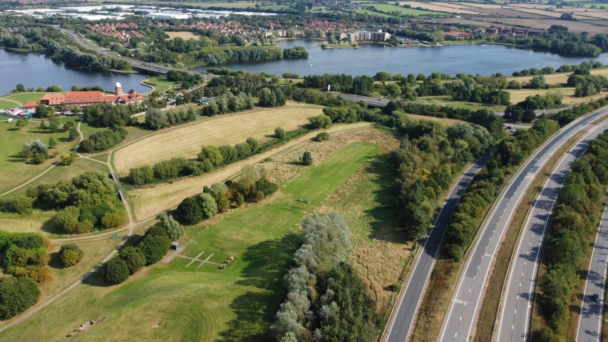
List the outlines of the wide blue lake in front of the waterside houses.
<svg viewBox="0 0 608 342">
<path fill-rule="evenodd" d="M 579 64 L 592 59 L 487 44 L 428 48 L 383 48 L 377 44 L 363 44 L 360 48 L 322 49 L 316 46 L 321 41 L 297 39 L 281 43 L 281 48 L 304 46 L 309 52 L 309 58 L 225 63 L 215 67 L 244 70 L 249 73 L 266 71 L 277 76 L 284 72 L 299 73 L 301 76 L 323 73 L 373 76 L 378 71 L 401 73 L 403 76 L 408 73 L 429 75 L 433 71 L 448 73 L 451 76 L 457 73 L 479 73 L 488 76 L 497 72 L 510 76 L 514 71 L 525 68 L 558 68 L 564 64 Z M 608 64 L 608 53 L 602 53 L 593 59 Z"/>
</svg>

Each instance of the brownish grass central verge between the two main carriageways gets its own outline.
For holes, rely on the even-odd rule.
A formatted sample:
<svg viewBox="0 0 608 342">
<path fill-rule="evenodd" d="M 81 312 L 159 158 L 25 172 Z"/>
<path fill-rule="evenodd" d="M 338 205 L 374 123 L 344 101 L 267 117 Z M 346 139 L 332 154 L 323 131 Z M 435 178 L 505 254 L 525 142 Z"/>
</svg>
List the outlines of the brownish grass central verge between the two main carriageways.
<svg viewBox="0 0 608 342">
<path fill-rule="evenodd" d="M 494 326 L 498 309 L 500 308 L 500 299 L 503 294 L 503 286 L 507 272 L 509 271 L 509 265 L 513 250 L 517 246 L 517 241 L 520 236 L 521 227 L 525 222 L 528 214 L 528 208 L 534 202 L 534 199 L 538 195 L 542 183 L 545 182 L 547 175 L 550 174 L 552 168 L 560 161 L 562 155 L 572 147 L 572 144 L 579 140 L 584 135 L 584 132 L 579 132 L 572 136 L 567 142 L 560 147 L 557 152 L 545 163 L 538 175 L 532 180 L 530 188 L 528 188 L 525 195 L 522 197 L 522 201 L 517 206 L 515 214 L 511 219 L 509 227 L 503 241 L 500 243 L 498 248 L 497 257 L 494 259 L 494 266 L 492 267 L 492 273 L 488 280 L 488 287 L 485 289 L 483 296 L 481 311 L 479 314 L 479 321 L 475 328 L 475 336 L 473 341 L 485 342 L 492 341 L 494 332 Z"/>
</svg>

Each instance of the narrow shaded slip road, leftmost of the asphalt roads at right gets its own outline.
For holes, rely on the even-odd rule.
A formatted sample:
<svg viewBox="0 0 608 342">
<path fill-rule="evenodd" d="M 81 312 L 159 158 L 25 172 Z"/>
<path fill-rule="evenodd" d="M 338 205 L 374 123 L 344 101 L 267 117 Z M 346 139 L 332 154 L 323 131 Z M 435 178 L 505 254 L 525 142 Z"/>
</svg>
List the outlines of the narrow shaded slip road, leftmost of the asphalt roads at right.
<svg viewBox="0 0 608 342">
<path fill-rule="evenodd" d="M 439 245 L 443 239 L 445 229 L 448 227 L 448 222 L 450 221 L 450 217 L 452 217 L 454 208 L 470 181 L 473 180 L 473 176 L 481 170 L 489 158 L 490 152 L 483 155 L 483 157 L 464 172 L 445 199 L 438 214 L 436 214 L 431 232 L 424 241 L 421 252 L 418 253 L 411 276 L 407 279 L 406 284 L 404 284 L 403 289 L 405 291 L 402 291 L 401 296 L 398 298 L 395 305 L 396 309 L 393 311 L 393 316 L 391 316 L 391 321 L 388 323 L 388 328 L 382 341 L 397 342 L 408 339 L 428 277 L 431 276 L 431 271 L 433 270 Z"/>
</svg>

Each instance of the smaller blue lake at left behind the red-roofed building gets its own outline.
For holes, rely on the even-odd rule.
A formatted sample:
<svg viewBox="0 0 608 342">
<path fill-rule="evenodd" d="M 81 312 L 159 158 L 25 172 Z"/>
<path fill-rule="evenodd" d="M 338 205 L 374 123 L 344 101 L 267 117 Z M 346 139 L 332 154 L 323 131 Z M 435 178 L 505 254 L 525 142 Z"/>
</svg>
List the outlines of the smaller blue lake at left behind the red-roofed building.
<svg viewBox="0 0 608 342">
<path fill-rule="evenodd" d="M 140 84 L 143 80 L 145 75 L 140 73 L 86 71 L 53 62 L 44 55 L 0 50 L 0 95 L 9 93 L 18 83 L 26 88 L 56 85 L 69 91 L 75 84 L 79 87 L 101 86 L 104 90 L 114 90 L 114 84 L 120 82 L 125 92 L 135 89 L 145 93 L 150 88 Z"/>
</svg>

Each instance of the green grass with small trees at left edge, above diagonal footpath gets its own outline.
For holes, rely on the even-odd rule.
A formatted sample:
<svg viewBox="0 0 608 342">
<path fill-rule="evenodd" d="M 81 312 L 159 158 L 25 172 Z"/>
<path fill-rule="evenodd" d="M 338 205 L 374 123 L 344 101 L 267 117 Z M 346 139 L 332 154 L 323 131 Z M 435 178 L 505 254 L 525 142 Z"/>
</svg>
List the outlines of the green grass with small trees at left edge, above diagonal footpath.
<svg viewBox="0 0 608 342">
<path fill-rule="evenodd" d="M 14 123 L 0 123 L 0 179 L 2 180 L 0 194 L 35 177 L 59 158 L 47 160 L 42 164 L 23 160 L 19 155 L 23 142 L 31 144 L 34 140 L 40 139 L 48 144 L 49 138 L 55 138 L 58 145 L 51 152 L 57 150 L 60 155 L 78 144 L 78 140 L 68 140 L 68 133 L 50 133 L 48 130 L 40 130 L 38 125 L 40 124 L 29 122 L 26 127 L 18 130 Z"/>
</svg>

